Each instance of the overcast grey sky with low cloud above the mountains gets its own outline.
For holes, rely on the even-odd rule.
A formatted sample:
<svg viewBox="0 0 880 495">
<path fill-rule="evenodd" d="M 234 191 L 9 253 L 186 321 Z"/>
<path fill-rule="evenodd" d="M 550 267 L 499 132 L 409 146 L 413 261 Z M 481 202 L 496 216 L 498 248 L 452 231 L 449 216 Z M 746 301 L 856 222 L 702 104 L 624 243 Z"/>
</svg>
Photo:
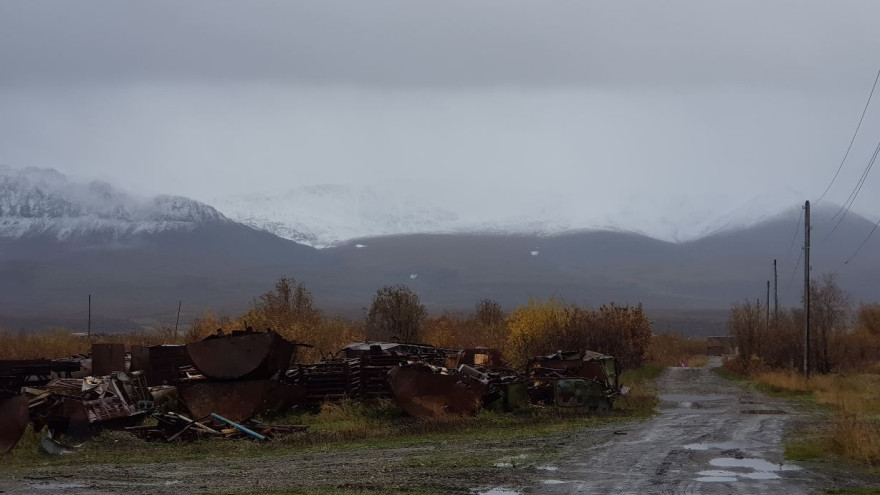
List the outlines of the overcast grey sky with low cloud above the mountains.
<svg viewBox="0 0 880 495">
<path fill-rule="evenodd" d="M 0 0 L 0 163 L 197 198 L 377 183 L 458 211 L 815 199 L 880 68 L 878 18 L 868 0 Z M 880 94 L 832 201 L 878 139 Z M 878 192 L 874 171 L 855 211 L 880 218 Z"/>
</svg>

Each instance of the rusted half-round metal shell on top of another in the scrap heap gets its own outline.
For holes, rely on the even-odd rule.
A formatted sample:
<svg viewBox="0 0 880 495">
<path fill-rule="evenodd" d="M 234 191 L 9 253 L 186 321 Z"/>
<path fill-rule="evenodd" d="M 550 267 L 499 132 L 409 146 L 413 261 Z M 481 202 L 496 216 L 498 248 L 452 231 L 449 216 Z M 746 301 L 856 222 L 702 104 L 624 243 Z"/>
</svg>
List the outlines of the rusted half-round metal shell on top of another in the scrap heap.
<svg viewBox="0 0 880 495">
<path fill-rule="evenodd" d="M 233 332 L 186 344 L 193 365 L 221 380 L 270 378 L 286 371 L 296 346 L 275 332 Z"/>
</svg>

